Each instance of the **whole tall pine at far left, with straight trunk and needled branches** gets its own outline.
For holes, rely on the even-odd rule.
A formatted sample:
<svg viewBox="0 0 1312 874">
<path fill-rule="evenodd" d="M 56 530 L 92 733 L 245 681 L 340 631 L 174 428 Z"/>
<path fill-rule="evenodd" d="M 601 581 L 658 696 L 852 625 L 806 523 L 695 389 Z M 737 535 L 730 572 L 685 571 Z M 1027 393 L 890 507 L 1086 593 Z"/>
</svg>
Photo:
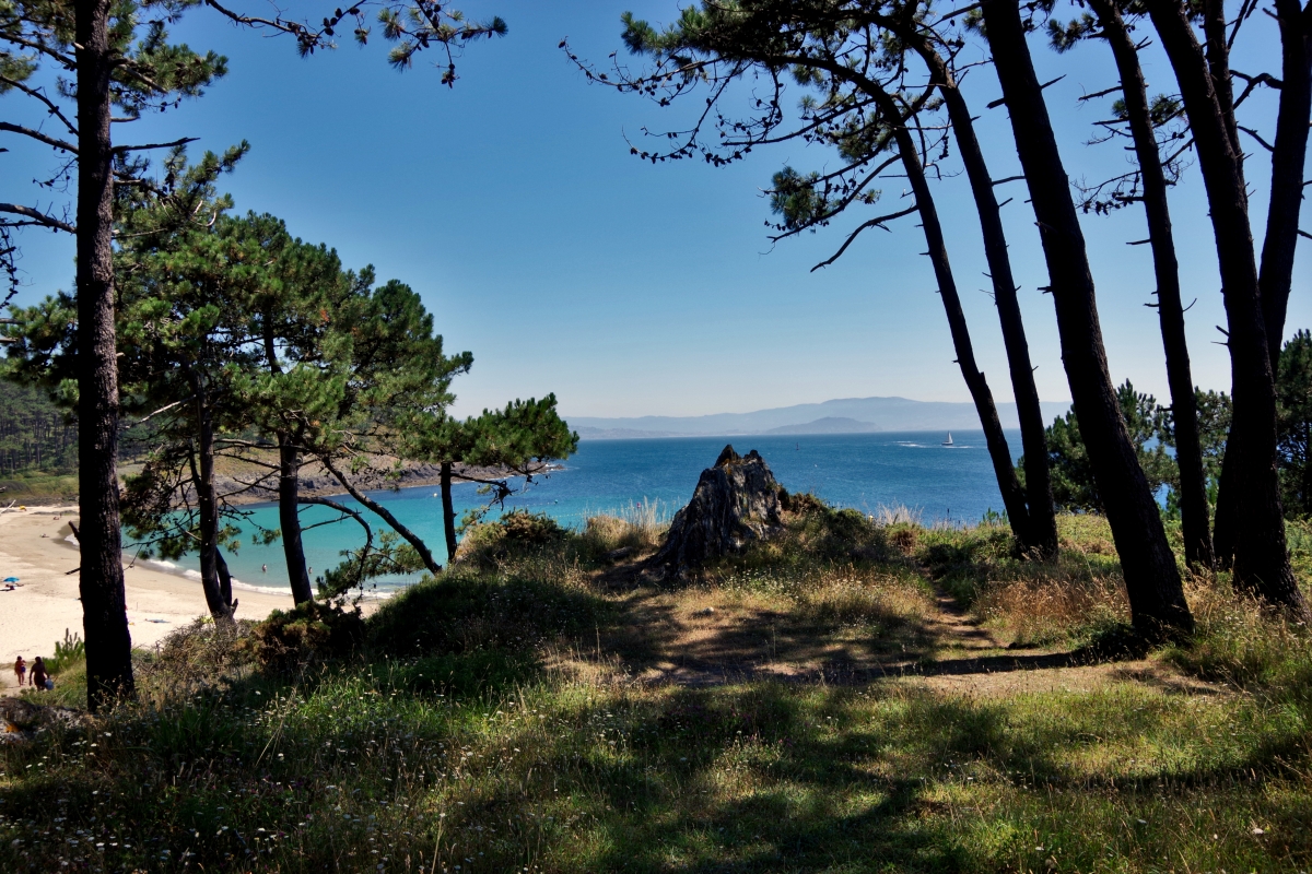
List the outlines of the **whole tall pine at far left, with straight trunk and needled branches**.
<svg viewBox="0 0 1312 874">
<path fill-rule="evenodd" d="M 223 58 L 198 55 L 168 43 L 165 22 L 181 16 L 188 3 L 164 4 L 164 16 L 144 14 L 135 0 L 0 0 L 0 96 L 21 93 L 56 119 L 67 132 L 0 122 L 0 132 L 26 136 L 60 156 L 64 164 L 45 187 L 67 181 L 76 164 L 75 207 L 34 202 L 0 202 L 0 266 L 16 288 L 13 231 L 41 227 L 76 235 L 79 380 L 79 501 L 81 504 L 80 591 L 87 641 L 88 704 L 92 710 L 133 693 L 131 638 L 123 596 L 118 507 L 118 387 L 114 335 L 113 203 L 114 187 L 150 190 L 130 156 L 142 149 L 182 144 L 115 145 L 114 122 L 130 122 L 143 111 L 164 111 L 184 97 L 198 96 L 226 69 Z M 289 34 L 302 55 L 333 46 L 335 29 L 354 20 L 356 39 L 367 42 L 365 10 L 379 7 L 383 35 L 394 43 L 388 60 L 408 67 L 424 50 L 445 51 L 442 83 L 455 83 L 461 46 L 506 33 L 501 18 L 468 21 L 459 10 L 425 0 L 358 3 L 336 9 L 320 25 L 244 14 L 216 0 L 205 7 L 244 28 Z M 49 89 L 38 73 L 56 68 L 71 73 L 72 88 Z M 47 73 L 49 76 L 49 73 Z M 119 117 L 113 117 L 118 110 Z M 76 119 L 76 122 L 73 121 Z"/>
</svg>

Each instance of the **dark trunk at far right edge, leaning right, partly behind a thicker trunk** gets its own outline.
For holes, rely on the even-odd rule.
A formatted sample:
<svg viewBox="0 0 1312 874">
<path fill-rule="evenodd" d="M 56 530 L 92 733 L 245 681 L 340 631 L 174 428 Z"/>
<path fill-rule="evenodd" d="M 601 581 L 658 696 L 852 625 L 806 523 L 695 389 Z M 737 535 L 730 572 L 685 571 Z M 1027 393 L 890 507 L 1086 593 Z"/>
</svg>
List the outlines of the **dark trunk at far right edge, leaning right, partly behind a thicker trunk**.
<svg viewBox="0 0 1312 874">
<path fill-rule="evenodd" d="M 1271 143 L 1271 202 L 1262 240 L 1262 267 L 1257 286 L 1262 296 L 1267 355 L 1271 371 L 1279 372 L 1284 313 L 1294 279 L 1294 249 L 1299 241 L 1299 211 L 1303 207 L 1303 164 L 1308 151 L 1308 117 L 1312 115 L 1312 3 L 1275 0 L 1283 51 L 1281 105 Z"/>
</svg>

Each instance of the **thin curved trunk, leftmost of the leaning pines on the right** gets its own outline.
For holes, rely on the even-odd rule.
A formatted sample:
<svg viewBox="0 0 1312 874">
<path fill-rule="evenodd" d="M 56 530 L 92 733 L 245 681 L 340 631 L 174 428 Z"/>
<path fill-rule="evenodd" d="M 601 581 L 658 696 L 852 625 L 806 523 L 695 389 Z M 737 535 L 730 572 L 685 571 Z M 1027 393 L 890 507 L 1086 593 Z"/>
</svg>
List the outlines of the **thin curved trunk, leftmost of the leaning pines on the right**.
<svg viewBox="0 0 1312 874">
<path fill-rule="evenodd" d="M 1035 542 L 1031 533 L 1025 491 L 1021 489 L 1015 466 L 1012 464 L 1012 451 L 1006 446 L 1006 435 L 1002 434 L 1002 422 L 997 415 L 993 392 L 989 390 L 988 380 L 984 379 L 984 373 L 975 363 L 975 349 L 971 343 L 970 328 L 966 325 L 966 313 L 962 311 L 962 299 L 956 294 L 956 279 L 953 276 L 953 265 L 947 258 L 943 228 L 938 221 L 934 195 L 925 178 L 925 168 L 920 162 L 916 140 L 903 121 L 892 96 L 872 80 L 862 80 L 861 85 L 874 98 L 879 111 L 892 127 L 893 139 L 907 170 L 907 180 L 916 197 L 916 208 L 920 212 L 921 228 L 925 231 L 929 261 L 934 267 L 938 294 L 943 297 L 943 309 L 947 313 L 947 326 L 953 335 L 953 347 L 956 351 L 956 364 L 962 368 L 966 387 L 970 389 L 980 425 L 984 427 L 984 442 L 988 446 L 989 459 L 993 461 L 993 474 L 997 477 L 998 490 L 1002 493 L 1002 504 L 1012 523 L 1012 531 L 1022 549 L 1038 549 L 1039 544 Z"/>
</svg>

